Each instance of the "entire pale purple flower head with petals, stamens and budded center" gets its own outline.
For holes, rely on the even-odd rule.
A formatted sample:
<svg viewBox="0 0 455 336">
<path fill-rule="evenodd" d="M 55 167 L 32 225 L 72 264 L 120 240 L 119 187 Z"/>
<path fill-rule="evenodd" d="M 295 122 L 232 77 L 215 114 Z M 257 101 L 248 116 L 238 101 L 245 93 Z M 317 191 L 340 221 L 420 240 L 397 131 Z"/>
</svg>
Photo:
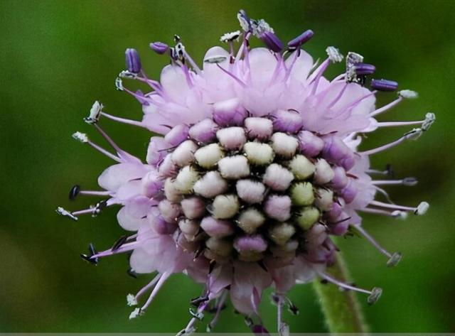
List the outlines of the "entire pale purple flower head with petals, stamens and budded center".
<svg viewBox="0 0 455 336">
<path fill-rule="evenodd" d="M 194 330 L 209 304 L 214 302 L 219 313 L 228 295 L 235 309 L 251 319 L 253 330 L 264 328 L 252 320 L 259 317 L 264 289 L 274 288 L 281 309 L 289 288 L 316 276 L 367 293 L 368 303 L 374 303 L 382 293 L 380 288 L 353 287 L 324 271 L 336 259 L 331 236 L 358 232 L 387 257 L 388 266 L 395 266 L 401 254 L 390 253 L 375 242 L 361 226 L 359 214 L 402 218 L 428 210 L 427 202 L 408 207 L 376 200 L 377 195 L 387 195 L 384 185 L 415 185 L 417 181 L 373 179 L 373 175 L 387 177 L 389 171 L 369 165 L 369 156 L 417 139 L 434 122 L 432 113 L 422 121 L 375 119 L 417 94 L 401 90 L 395 101 L 376 108 L 376 94 L 395 91 L 398 84 L 369 80 L 376 68 L 364 63 L 363 56 L 348 53 L 346 72 L 328 80 L 326 68 L 340 63 L 343 55 L 328 47 L 327 59 L 316 66 L 302 49 L 313 31 L 305 31 L 285 48 L 264 20 L 253 20 L 245 11 L 237 17 L 243 32 L 223 35 L 220 40 L 228 43 L 228 50 L 210 48 L 202 69 L 179 36 L 173 47 L 151 43 L 156 53 L 168 52 L 171 60 L 159 82 L 146 77 L 137 51 L 127 49 L 127 70 L 117 77 L 116 85 L 138 99 L 143 119 L 112 116 L 100 102 L 85 118 L 114 154 L 86 134 L 73 134 L 116 163 L 98 178 L 102 191 L 81 190 L 78 185 L 70 191 L 70 199 L 95 195 L 106 200 L 75 212 L 59 207 L 58 213 L 77 220 L 80 215 L 96 216 L 105 207 L 119 205 L 119 224 L 134 232 L 105 251 L 97 252 L 90 245 L 84 259 L 97 262 L 132 251 L 130 274 L 158 272 L 137 295 L 127 296 L 129 305 L 137 305 L 151 291 L 129 318 L 144 314 L 166 279 L 180 272 L 205 286 L 204 295 L 191 301 L 196 309 L 186 332 Z M 250 48 L 253 36 L 267 48 Z M 132 92 L 124 87 L 124 79 L 144 82 L 152 91 Z M 105 134 L 100 119 L 144 127 L 161 136 L 151 137 L 143 163 Z M 400 139 L 358 150 L 362 134 L 408 125 L 416 128 Z"/>
</svg>

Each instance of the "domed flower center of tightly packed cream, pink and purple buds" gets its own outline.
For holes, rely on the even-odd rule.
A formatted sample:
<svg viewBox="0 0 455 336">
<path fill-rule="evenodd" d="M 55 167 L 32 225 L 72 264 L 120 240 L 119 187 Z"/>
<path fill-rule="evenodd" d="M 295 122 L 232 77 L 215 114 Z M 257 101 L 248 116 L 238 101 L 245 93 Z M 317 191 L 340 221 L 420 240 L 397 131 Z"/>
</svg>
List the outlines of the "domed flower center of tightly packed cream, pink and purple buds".
<svg viewBox="0 0 455 336">
<path fill-rule="evenodd" d="M 162 233 L 178 224 L 183 249 L 217 262 L 270 256 L 285 263 L 309 253 L 316 223 L 324 231 L 347 228 L 342 207 L 355 196 L 343 168 L 350 152 L 305 131 L 295 111 L 247 117 L 218 108 L 159 166 L 165 197 L 155 222 Z M 166 138 L 172 143 L 178 134 Z"/>
</svg>

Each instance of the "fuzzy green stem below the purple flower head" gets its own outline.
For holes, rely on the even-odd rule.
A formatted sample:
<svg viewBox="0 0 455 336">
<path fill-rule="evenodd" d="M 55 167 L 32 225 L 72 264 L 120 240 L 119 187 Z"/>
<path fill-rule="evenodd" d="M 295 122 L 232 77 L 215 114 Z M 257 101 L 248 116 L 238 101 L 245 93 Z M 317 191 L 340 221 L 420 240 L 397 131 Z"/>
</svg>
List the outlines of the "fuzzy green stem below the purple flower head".
<svg viewBox="0 0 455 336">
<path fill-rule="evenodd" d="M 338 253 L 336 263 L 328 267 L 327 273 L 340 281 L 348 282 L 349 272 L 343 256 Z M 338 286 L 314 281 L 328 330 L 338 332 L 368 332 L 360 304 L 353 291 L 340 291 Z"/>
</svg>

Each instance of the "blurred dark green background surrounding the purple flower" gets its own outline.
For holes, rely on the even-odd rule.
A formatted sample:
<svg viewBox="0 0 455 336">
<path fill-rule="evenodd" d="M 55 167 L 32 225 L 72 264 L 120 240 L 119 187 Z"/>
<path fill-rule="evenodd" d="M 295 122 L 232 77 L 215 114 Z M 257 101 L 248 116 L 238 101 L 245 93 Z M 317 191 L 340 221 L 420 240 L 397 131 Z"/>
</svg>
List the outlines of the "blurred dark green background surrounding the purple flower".
<svg viewBox="0 0 455 336">
<path fill-rule="evenodd" d="M 188 300 L 200 287 L 173 276 L 143 318 L 129 322 L 125 296 L 148 281 L 126 275 L 127 260 L 115 256 L 93 267 L 79 254 L 94 242 L 108 248 L 122 234 L 116 210 L 97 219 L 71 222 L 55 214 L 62 205 L 82 209 L 92 200 L 70 204 L 74 183 L 96 188 L 109 159 L 73 141 L 87 132 L 82 121 L 100 99 L 107 112 L 141 117 L 139 104 L 114 90 L 124 67 L 124 49 L 137 48 L 149 76 L 158 78 L 166 57 L 149 43 L 171 43 L 174 33 L 201 60 L 219 37 L 238 28 L 237 10 L 265 18 L 283 40 L 307 28 L 305 45 L 314 58 L 327 45 L 355 50 L 378 67 L 377 76 L 420 93 L 388 112 L 387 120 L 422 119 L 437 113 L 431 131 L 373 158 L 392 163 L 399 177 L 415 176 L 414 188 L 390 188 L 397 203 L 432 207 L 424 217 L 395 221 L 365 216 L 365 227 L 388 249 L 402 251 L 395 269 L 362 239 L 340 242 L 355 283 L 381 286 L 377 305 L 365 307 L 375 332 L 455 331 L 454 244 L 454 64 L 455 1 L 1 1 L 0 123 L 0 331 L 1 332 L 175 332 L 189 319 Z M 257 43 L 259 45 L 260 43 Z M 332 74 L 342 66 L 334 67 Z M 378 103 L 393 99 L 382 94 Z M 144 157 L 150 134 L 105 120 L 103 127 L 121 146 Z M 407 129 L 369 136 L 372 148 Z M 289 294 L 299 306 L 287 315 L 291 330 L 325 331 L 311 286 Z M 361 296 L 362 303 L 365 297 Z M 262 312 L 274 330 L 274 308 Z M 272 322 L 269 322 L 272 321 Z M 201 328 L 203 330 L 204 328 Z M 242 318 L 226 310 L 216 331 L 247 332 Z"/>
</svg>

